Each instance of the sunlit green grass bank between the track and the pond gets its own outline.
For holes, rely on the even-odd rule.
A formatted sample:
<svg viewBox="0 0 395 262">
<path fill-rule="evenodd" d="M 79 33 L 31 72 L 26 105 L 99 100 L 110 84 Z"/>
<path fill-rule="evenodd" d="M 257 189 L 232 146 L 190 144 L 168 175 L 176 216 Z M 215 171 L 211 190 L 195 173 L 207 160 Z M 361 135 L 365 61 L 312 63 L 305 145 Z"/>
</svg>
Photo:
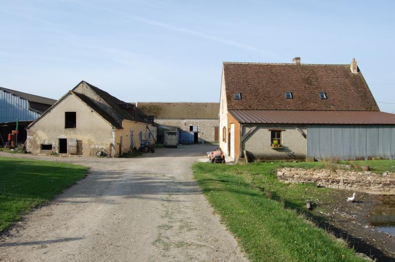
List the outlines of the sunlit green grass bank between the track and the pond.
<svg viewBox="0 0 395 262">
<path fill-rule="evenodd" d="M 371 163 L 372 161 L 369 161 Z M 322 168 L 322 162 L 220 165 L 196 163 L 194 176 L 210 204 L 252 261 L 365 261 L 334 241 L 301 212 L 309 199 L 333 189 L 285 184 L 274 175 L 281 166 Z"/>
</svg>

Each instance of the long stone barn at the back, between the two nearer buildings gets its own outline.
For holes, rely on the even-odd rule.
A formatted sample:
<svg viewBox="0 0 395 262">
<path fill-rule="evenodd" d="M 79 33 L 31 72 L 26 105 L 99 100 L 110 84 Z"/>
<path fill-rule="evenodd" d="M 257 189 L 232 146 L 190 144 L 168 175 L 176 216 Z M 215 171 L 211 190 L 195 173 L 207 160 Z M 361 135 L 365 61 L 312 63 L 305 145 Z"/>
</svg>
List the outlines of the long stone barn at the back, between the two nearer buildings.
<svg viewBox="0 0 395 262">
<path fill-rule="evenodd" d="M 182 144 L 218 142 L 219 103 L 138 102 L 137 107 L 156 123 L 179 128 Z"/>
</svg>

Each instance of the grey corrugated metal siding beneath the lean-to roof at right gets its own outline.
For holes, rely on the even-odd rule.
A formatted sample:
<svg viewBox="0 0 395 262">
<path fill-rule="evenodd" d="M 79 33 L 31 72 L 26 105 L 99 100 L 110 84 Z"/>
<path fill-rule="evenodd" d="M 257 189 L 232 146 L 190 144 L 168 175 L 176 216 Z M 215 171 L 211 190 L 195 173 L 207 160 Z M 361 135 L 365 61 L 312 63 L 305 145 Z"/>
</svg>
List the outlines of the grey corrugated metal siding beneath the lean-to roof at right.
<svg viewBox="0 0 395 262">
<path fill-rule="evenodd" d="M 395 125 L 308 125 L 307 157 L 395 159 Z"/>
</svg>

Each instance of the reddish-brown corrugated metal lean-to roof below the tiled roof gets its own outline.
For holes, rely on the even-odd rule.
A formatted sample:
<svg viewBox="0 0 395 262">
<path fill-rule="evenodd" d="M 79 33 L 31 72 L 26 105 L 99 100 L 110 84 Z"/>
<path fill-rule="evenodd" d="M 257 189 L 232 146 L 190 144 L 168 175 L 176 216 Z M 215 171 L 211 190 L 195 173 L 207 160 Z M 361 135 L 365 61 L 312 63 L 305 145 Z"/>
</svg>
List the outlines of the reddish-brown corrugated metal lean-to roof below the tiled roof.
<svg viewBox="0 0 395 262">
<path fill-rule="evenodd" d="M 395 124 L 395 114 L 380 111 L 229 110 L 240 123 Z"/>
</svg>

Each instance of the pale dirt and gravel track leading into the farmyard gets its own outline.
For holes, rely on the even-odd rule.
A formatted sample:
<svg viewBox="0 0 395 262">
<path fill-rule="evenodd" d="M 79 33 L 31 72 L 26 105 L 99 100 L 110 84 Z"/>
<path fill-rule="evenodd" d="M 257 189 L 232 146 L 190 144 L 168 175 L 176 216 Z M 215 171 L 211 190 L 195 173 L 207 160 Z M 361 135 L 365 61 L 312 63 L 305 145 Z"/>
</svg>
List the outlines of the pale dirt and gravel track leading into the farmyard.
<svg viewBox="0 0 395 262">
<path fill-rule="evenodd" d="M 211 147 L 159 148 L 135 159 L 23 156 L 91 171 L 24 216 L 0 241 L 0 260 L 245 261 L 192 178 L 190 165 Z"/>
</svg>

